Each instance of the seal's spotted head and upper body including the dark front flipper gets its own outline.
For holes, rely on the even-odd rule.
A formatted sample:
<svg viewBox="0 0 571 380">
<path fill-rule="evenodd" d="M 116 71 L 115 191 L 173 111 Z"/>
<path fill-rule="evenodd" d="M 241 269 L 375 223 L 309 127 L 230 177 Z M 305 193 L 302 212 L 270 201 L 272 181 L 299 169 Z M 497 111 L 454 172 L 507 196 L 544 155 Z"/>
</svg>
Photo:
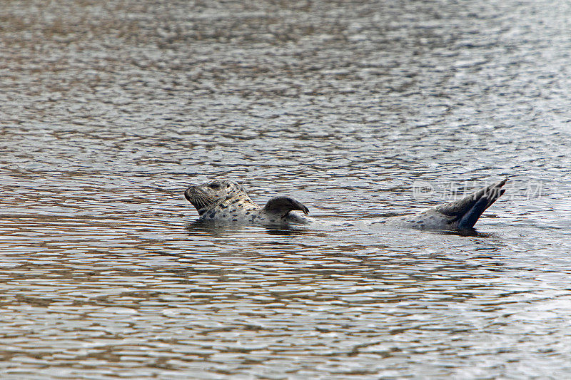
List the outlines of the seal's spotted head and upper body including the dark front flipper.
<svg viewBox="0 0 571 380">
<path fill-rule="evenodd" d="M 313 221 L 305 216 L 309 213 L 308 207 L 293 197 L 273 197 L 261 207 L 250 199 L 243 186 L 230 180 L 213 180 L 191 186 L 184 196 L 196 207 L 200 220 L 255 225 L 305 225 Z"/>
</svg>

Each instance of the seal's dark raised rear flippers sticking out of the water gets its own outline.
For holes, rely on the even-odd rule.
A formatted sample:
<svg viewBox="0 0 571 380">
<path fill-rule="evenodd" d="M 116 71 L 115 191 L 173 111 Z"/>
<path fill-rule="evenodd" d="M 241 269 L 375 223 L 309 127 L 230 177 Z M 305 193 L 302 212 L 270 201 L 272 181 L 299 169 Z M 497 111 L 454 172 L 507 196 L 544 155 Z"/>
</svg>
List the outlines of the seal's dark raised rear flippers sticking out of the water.
<svg viewBox="0 0 571 380">
<path fill-rule="evenodd" d="M 480 215 L 482 215 L 482 212 L 484 212 L 487 207 L 490 207 L 493 202 L 505 192 L 502 186 L 505 185 L 506 182 L 507 178 L 455 202 L 436 206 L 433 210 L 450 217 L 450 227 L 459 229 L 472 228 Z"/>
</svg>

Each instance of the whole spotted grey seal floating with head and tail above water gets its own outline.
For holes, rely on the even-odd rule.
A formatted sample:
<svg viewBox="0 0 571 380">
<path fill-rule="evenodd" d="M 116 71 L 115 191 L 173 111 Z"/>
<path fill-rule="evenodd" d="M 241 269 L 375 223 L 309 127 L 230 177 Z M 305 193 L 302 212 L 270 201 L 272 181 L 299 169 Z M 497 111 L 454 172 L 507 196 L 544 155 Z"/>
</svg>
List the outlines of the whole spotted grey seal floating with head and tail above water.
<svg viewBox="0 0 571 380">
<path fill-rule="evenodd" d="M 468 230 L 482 212 L 505 192 L 501 180 L 460 200 L 431 207 L 415 214 L 364 221 L 366 225 L 385 224 L 426 230 Z M 187 188 L 184 196 L 191 202 L 199 220 L 216 220 L 252 225 L 307 225 L 318 222 L 308 215 L 308 207 L 293 197 L 278 196 L 264 207 L 256 205 L 242 185 L 231 180 L 213 180 Z"/>
</svg>

